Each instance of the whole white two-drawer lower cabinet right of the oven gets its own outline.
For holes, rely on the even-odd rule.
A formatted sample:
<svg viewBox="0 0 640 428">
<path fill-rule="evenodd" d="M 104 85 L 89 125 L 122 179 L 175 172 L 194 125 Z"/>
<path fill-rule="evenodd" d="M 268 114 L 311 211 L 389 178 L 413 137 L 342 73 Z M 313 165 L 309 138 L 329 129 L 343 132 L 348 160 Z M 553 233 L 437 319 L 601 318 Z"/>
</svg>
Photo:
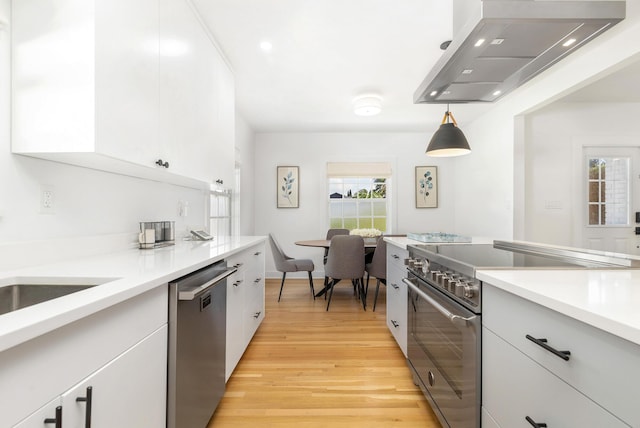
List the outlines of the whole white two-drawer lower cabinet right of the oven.
<svg viewBox="0 0 640 428">
<path fill-rule="evenodd" d="M 483 423 L 640 426 L 640 347 L 490 284 L 482 293 Z"/>
</svg>

